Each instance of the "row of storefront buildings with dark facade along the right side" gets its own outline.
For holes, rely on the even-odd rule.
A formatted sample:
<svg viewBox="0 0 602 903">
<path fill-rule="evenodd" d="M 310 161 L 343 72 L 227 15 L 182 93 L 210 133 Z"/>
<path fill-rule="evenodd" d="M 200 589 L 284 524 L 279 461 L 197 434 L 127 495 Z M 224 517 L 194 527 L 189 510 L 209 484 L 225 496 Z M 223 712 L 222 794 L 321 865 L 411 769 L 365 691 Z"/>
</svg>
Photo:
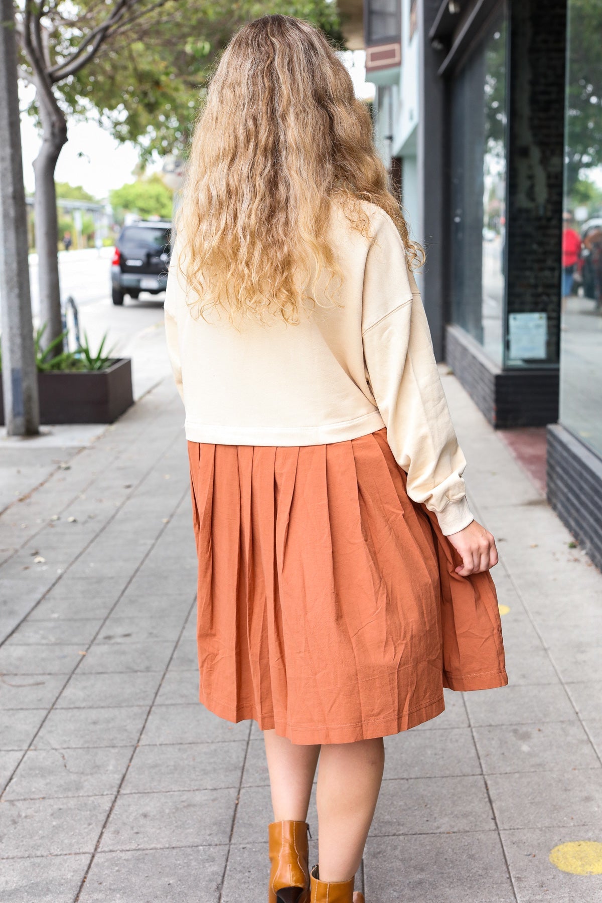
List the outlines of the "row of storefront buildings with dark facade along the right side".
<svg viewBox="0 0 602 903">
<path fill-rule="evenodd" d="M 602 2 L 366 0 L 364 23 L 436 352 L 495 428 L 547 426 L 551 505 L 602 565 Z"/>
</svg>

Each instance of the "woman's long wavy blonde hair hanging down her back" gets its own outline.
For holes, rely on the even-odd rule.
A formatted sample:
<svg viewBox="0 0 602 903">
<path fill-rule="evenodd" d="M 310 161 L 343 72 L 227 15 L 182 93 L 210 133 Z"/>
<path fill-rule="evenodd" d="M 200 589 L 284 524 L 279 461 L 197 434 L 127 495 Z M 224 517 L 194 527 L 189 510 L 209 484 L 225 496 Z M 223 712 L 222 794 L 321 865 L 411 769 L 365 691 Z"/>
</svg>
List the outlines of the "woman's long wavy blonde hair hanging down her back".
<svg viewBox="0 0 602 903">
<path fill-rule="evenodd" d="M 333 201 L 366 237 L 358 201 L 384 209 L 409 263 L 421 260 L 386 185 L 368 109 L 325 36 L 287 15 L 246 24 L 210 80 L 190 148 L 176 226 L 191 306 L 297 323 L 308 299 L 337 303 Z"/>
</svg>

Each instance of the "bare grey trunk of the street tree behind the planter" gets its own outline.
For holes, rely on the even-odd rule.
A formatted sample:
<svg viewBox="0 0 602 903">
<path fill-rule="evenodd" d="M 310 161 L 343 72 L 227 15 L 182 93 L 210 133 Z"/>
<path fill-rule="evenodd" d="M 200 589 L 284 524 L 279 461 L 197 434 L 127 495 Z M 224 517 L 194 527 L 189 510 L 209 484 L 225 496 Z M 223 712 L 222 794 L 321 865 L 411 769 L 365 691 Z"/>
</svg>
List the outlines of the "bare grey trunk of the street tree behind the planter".
<svg viewBox="0 0 602 903">
<path fill-rule="evenodd" d="M 48 109 L 44 92 L 37 91 L 42 120 L 42 147 L 33 162 L 35 175 L 35 247 L 38 252 L 40 325 L 46 325 L 42 348 L 62 332 L 59 282 L 59 224 L 54 170 L 63 144 L 67 142 L 67 121 L 59 107 Z M 60 353 L 57 348 L 55 353 Z"/>
</svg>

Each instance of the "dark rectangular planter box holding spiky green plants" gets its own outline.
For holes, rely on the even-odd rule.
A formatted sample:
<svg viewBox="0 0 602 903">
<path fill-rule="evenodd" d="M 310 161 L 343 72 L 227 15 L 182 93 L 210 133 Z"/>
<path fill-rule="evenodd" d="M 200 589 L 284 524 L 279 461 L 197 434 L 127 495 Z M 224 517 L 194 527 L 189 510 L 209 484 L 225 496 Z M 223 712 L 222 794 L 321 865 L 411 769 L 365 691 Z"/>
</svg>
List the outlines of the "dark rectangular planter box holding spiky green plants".
<svg viewBox="0 0 602 903">
<path fill-rule="evenodd" d="M 41 424 L 112 424 L 134 404 L 132 361 L 116 358 L 97 372 L 38 373 L 38 393 Z M 5 423 L 1 391 L 0 423 Z"/>
</svg>

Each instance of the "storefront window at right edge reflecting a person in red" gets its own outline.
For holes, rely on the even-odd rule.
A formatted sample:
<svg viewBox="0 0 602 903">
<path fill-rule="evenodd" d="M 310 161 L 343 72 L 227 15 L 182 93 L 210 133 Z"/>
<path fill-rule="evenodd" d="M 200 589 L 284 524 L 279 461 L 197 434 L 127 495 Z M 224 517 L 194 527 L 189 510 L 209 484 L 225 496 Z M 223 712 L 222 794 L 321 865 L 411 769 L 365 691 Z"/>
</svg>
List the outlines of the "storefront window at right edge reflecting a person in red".
<svg viewBox="0 0 602 903">
<path fill-rule="evenodd" d="M 560 423 L 602 454 L 602 5 L 569 2 Z"/>
</svg>

